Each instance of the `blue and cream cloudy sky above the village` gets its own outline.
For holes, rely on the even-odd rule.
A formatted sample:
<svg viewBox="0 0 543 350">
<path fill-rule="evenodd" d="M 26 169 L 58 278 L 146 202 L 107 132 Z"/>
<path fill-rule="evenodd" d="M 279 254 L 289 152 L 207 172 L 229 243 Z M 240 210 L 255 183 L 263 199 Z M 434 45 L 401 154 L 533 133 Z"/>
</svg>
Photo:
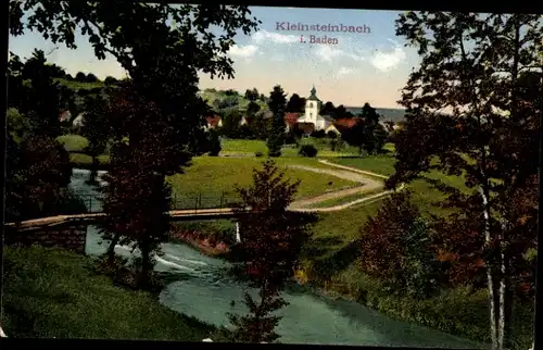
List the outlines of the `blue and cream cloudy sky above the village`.
<svg viewBox="0 0 543 350">
<path fill-rule="evenodd" d="M 369 102 L 376 108 L 399 107 L 400 90 L 419 62 L 415 49 L 405 47 L 405 40 L 395 36 L 394 21 L 401 12 L 263 7 L 251 10 L 262 24 L 256 32 L 235 38 L 236 45 L 229 52 L 235 62 L 235 78 L 211 79 L 202 74 L 201 89 L 243 92 L 255 87 L 268 95 L 275 85 L 281 85 L 289 96 L 303 97 L 315 86 L 320 100 L 336 105 L 358 107 Z M 313 28 L 289 30 L 288 24 Z M 353 27 L 351 30 L 355 33 L 330 33 L 326 30 L 328 25 L 340 30 Z M 356 27 L 365 33 L 356 33 Z M 312 43 L 312 36 L 314 41 L 326 37 L 331 43 Z M 21 58 L 30 57 L 35 48 L 43 50 L 50 63 L 72 75 L 77 72 L 92 72 L 99 78 L 126 75 L 115 59 L 98 60 L 80 33 L 76 43 L 78 48 L 71 50 L 33 32 L 10 37 L 9 42 L 10 51 Z"/>
</svg>

